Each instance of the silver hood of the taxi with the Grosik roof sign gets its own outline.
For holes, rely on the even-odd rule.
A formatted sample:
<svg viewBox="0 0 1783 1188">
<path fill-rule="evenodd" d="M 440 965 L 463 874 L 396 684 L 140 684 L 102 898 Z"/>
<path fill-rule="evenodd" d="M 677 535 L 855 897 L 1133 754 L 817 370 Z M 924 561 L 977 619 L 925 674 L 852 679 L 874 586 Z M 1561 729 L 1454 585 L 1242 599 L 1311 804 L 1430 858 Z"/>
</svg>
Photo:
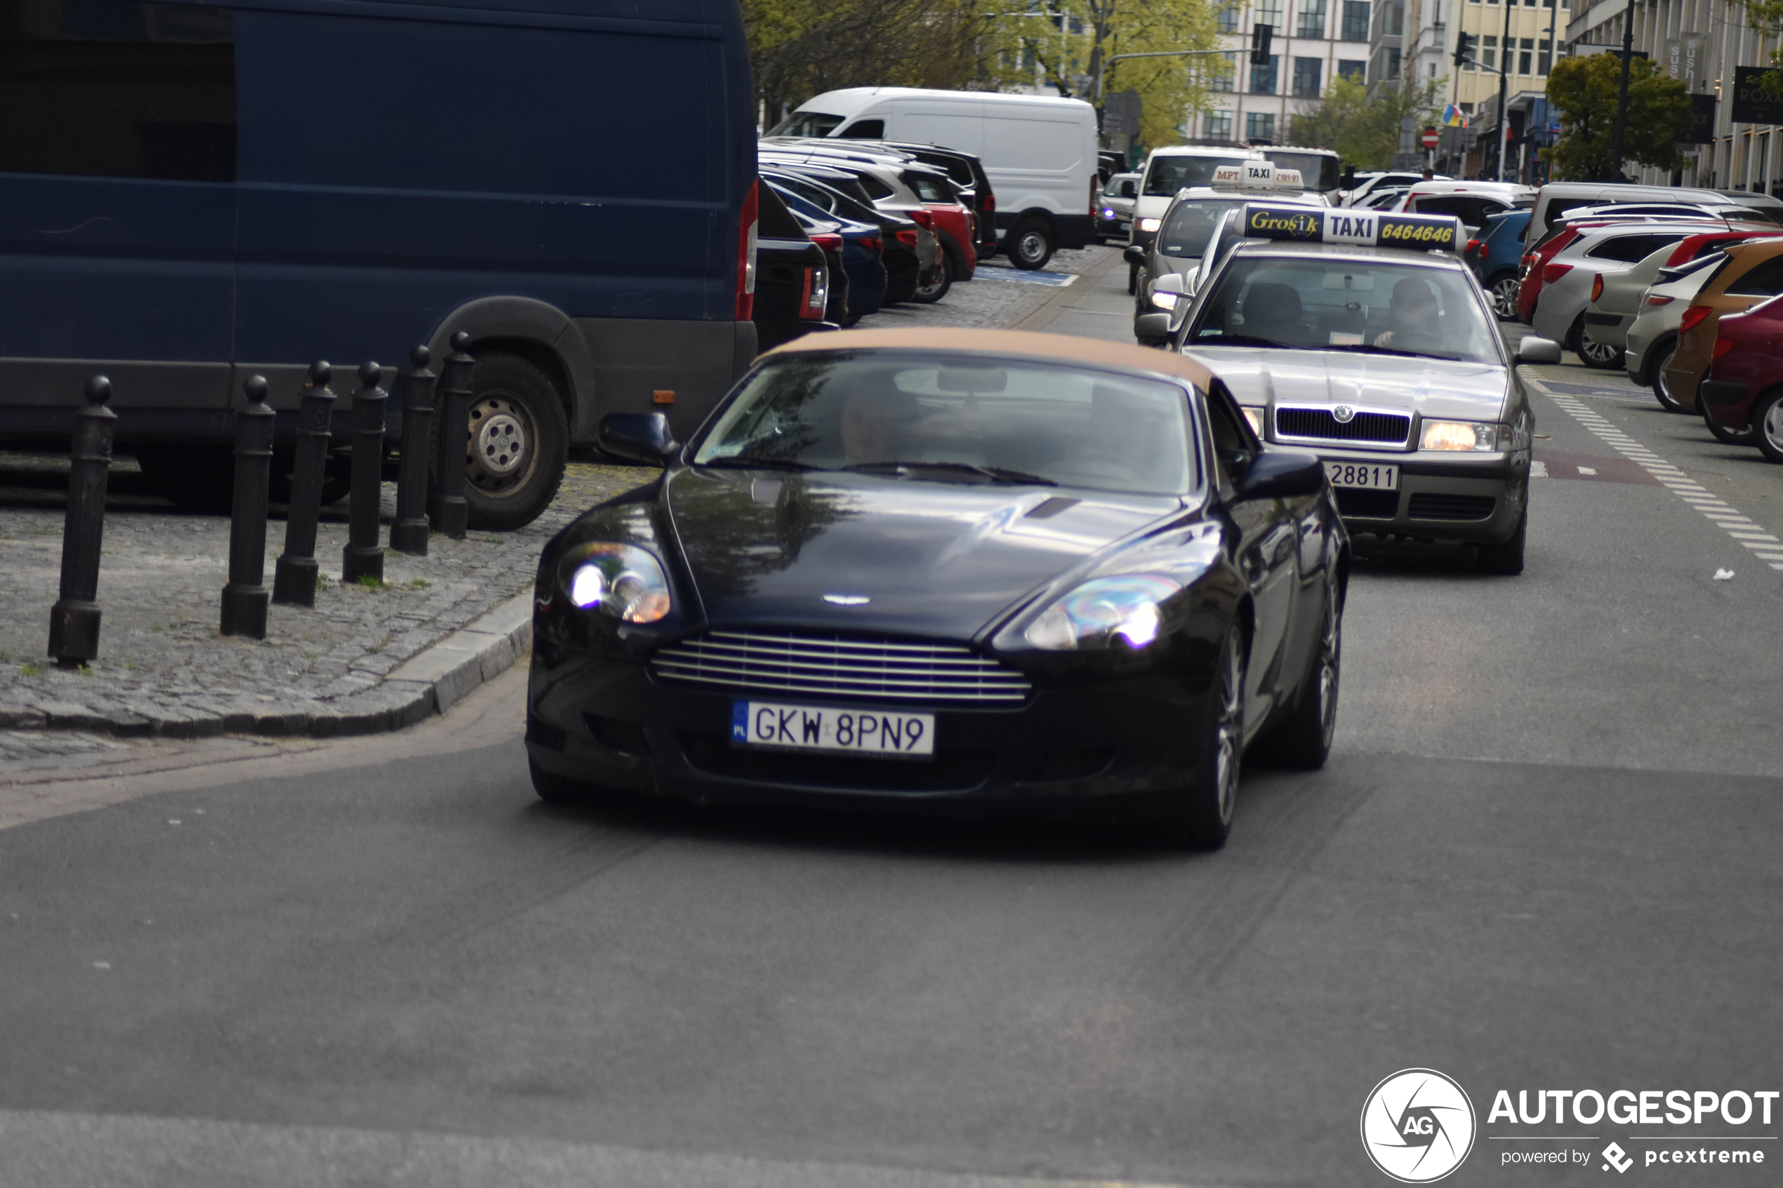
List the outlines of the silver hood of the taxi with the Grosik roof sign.
<svg viewBox="0 0 1783 1188">
<path fill-rule="evenodd" d="M 1239 404 L 1355 404 L 1423 417 L 1496 420 L 1508 372 L 1496 363 L 1464 363 L 1403 354 L 1195 347 Z"/>
</svg>

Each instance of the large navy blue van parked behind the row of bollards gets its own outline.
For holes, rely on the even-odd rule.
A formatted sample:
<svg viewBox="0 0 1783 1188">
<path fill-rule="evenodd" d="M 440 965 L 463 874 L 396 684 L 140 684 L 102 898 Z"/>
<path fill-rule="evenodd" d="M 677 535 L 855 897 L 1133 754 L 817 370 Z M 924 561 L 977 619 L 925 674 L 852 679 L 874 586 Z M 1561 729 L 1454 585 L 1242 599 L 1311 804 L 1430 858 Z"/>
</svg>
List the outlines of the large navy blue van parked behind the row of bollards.
<svg viewBox="0 0 1783 1188">
<path fill-rule="evenodd" d="M 66 447 L 105 370 L 119 451 L 226 490 L 248 374 L 289 433 L 308 360 L 464 330 L 514 527 L 756 353 L 738 0 L 4 0 L 0 112 L 0 445 Z"/>
</svg>

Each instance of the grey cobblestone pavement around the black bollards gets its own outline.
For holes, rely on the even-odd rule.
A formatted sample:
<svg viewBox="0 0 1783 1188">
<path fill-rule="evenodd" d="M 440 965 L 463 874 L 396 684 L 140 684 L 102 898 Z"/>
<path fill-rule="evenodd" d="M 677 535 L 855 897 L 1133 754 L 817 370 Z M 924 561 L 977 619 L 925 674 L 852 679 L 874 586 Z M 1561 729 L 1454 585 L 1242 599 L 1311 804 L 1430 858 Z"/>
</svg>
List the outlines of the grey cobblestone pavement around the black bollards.
<svg viewBox="0 0 1783 1188">
<path fill-rule="evenodd" d="M 0 768 L 34 753 L 73 762 L 107 745 L 89 736 L 50 743 L 29 727 L 301 732 L 319 711 L 366 695 L 403 661 L 526 590 L 558 527 L 651 476 L 574 461 L 531 525 L 465 540 L 433 536 L 426 557 L 389 552 L 380 588 L 339 582 L 346 504 L 335 504 L 317 536 L 325 581 L 316 609 L 275 606 L 267 638 L 255 641 L 218 634 L 228 518 L 171 508 L 148 492 L 134 463 L 119 460 L 100 563 L 100 657 L 71 671 L 43 659 L 61 572 L 66 461 L 0 454 Z M 385 524 L 394 492 L 387 483 Z M 282 547 L 283 520 L 275 518 L 267 584 Z"/>
</svg>

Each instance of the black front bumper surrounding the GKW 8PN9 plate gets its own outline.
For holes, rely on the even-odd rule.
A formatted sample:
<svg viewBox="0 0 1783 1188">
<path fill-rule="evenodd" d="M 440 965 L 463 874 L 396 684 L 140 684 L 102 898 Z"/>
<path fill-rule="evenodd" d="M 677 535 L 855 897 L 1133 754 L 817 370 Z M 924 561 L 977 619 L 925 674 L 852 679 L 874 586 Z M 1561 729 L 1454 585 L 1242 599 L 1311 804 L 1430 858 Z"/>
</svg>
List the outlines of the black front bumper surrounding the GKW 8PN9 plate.
<svg viewBox="0 0 1783 1188">
<path fill-rule="evenodd" d="M 756 691 L 754 700 L 843 705 L 849 698 Z M 1036 680 L 1020 705 L 868 705 L 934 714 L 933 761 L 770 752 L 731 743 L 747 689 L 686 688 L 637 661 L 590 655 L 540 634 L 528 686 L 526 752 L 546 771 L 679 800 L 838 803 L 1150 801 L 1193 780 L 1184 723 L 1205 691 L 1168 673 Z"/>
</svg>

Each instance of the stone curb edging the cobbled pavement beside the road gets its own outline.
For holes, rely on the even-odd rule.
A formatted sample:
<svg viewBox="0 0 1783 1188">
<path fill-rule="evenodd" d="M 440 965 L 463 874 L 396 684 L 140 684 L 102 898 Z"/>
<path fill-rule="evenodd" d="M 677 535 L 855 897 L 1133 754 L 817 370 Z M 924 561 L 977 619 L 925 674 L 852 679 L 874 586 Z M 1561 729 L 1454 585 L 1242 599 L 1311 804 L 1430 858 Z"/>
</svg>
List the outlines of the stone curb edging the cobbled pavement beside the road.
<svg viewBox="0 0 1783 1188">
<path fill-rule="evenodd" d="M 522 593 L 394 668 L 382 682 L 337 700 L 242 700 L 214 712 L 75 705 L 0 705 L 0 730 L 91 730 L 121 736 L 209 737 L 382 734 L 444 714 L 471 689 L 514 668 L 533 647 L 533 597 Z"/>
</svg>

